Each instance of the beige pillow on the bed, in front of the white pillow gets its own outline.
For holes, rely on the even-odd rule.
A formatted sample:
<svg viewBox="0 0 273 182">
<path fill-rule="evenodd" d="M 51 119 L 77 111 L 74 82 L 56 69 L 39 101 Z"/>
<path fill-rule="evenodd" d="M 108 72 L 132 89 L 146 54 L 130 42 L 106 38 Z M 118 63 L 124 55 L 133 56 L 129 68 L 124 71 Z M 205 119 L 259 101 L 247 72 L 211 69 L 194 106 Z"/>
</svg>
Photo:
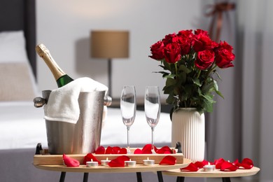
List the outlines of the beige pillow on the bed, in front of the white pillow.
<svg viewBox="0 0 273 182">
<path fill-rule="evenodd" d="M 32 101 L 36 97 L 27 62 L 0 64 L 0 102 Z"/>
</svg>

